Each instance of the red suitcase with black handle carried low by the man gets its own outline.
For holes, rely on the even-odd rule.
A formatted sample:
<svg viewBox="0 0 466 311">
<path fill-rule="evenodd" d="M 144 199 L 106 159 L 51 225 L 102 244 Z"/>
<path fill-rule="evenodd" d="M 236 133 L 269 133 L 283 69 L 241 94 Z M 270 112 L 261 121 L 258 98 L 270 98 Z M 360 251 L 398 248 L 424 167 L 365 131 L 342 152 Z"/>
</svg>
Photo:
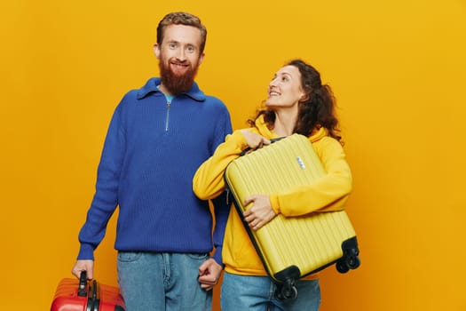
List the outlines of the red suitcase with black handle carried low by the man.
<svg viewBox="0 0 466 311">
<path fill-rule="evenodd" d="M 124 311 L 124 302 L 118 287 L 88 281 L 83 271 L 79 280 L 60 281 L 51 311 Z"/>
</svg>

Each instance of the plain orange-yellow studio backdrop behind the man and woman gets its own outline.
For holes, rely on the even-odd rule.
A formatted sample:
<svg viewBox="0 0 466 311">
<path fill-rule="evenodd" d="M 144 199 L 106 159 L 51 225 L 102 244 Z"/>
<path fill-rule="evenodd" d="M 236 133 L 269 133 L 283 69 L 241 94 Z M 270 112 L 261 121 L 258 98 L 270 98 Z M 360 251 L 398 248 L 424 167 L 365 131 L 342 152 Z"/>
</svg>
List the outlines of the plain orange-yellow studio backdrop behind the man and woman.
<svg viewBox="0 0 466 311">
<path fill-rule="evenodd" d="M 197 80 L 234 128 L 286 60 L 333 87 L 362 265 L 322 274 L 321 310 L 466 310 L 464 0 L 2 2 L 0 308 L 47 310 L 70 276 L 110 117 L 157 76 L 155 28 L 178 10 L 208 27 Z M 114 238 L 115 218 L 103 283 Z"/>
</svg>

